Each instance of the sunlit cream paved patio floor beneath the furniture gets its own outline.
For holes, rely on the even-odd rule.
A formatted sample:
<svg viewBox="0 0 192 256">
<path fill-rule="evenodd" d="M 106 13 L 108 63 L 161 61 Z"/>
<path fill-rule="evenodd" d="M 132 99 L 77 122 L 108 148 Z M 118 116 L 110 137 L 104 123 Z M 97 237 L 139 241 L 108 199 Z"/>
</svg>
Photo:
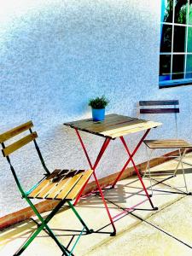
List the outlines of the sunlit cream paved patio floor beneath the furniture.
<svg viewBox="0 0 192 256">
<path fill-rule="evenodd" d="M 184 168 L 187 183 L 189 190 L 192 191 L 192 154 L 188 154 L 184 162 L 186 163 Z M 151 170 L 153 172 L 158 170 L 168 172 L 172 171 L 176 165 L 177 160 L 171 160 L 160 166 L 155 166 Z M 181 170 L 179 169 L 179 171 Z M 148 179 L 144 179 L 144 183 L 149 188 Z M 183 189 L 181 188 L 183 186 L 182 173 L 179 172 L 177 177 L 172 177 L 165 183 Z M 156 184 L 154 189 L 152 201 L 154 206 L 159 207 L 158 211 L 146 211 L 146 209 L 150 209 L 150 206 L 143 195 L 143 189 L 137 177 L 122 180 L 115 189 L 105 191 L 105 198 L 110 201 L 108 207 L 112 216 L 122 213 L 126 207 L 136 206 L 143 201 L 142 204 L 137 205 L 139 209 L 125 212 L 125 214 L 119 215 L 119 218 L 115 218 L 117 236 L 114 237 L 108 235 L 112 228 L 100 197 L 91 195 L 81 200 L 76 208 L 86 224 L 96 232 L 82 236 L 73 253 L 78 256 L 192 255 L 192 195 L 175 194 L 176 189 L 163 184 Z M 171 193 L 156 191 L 156 189 Z M 139 195 L 136 194 L 137 192 Z M 46 215 L 47 212 L 44 213 L 44 216 Z M 55 215 L 49 226 L 65 246 L 73 238 L 73 235 L 77 235 L 82 229 L 73 212 L 66 208 Z M 28 220 L 3 230 L 0 236 L 0 255 L 13 255 L 35 229 L 35 222 Z M 69 248 L 72 247 L 72 244 Z M 22 253 L 26 256 L 57 256 L 61 254 L 55 241 L 44 230 Z"/>
</svg>

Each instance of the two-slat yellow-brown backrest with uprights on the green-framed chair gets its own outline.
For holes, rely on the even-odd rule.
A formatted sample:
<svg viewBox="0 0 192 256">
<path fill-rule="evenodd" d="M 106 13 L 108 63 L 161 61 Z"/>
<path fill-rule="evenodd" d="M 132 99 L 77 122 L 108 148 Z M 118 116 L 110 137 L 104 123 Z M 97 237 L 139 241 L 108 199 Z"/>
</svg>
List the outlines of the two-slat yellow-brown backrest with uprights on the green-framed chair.
<svg viewBox="0 0 192 256">
<path fill-rule="evenodd" d="M 19 148 L 22 148 L 26 144 L 31 143 L 33 141 L 34 144 L 35 144 L 35 148 L 38 151 L 38 156 L 39 156 L 39 159 L 41 160 L 41 163 L 44 167 L 44 170 L 48 174 L 50 173 L 49 170 L 47 169 L 47 167 L 45 166 L 43 156 L 42 156 L 42 154 L 40 152 L 40 149 L 38 148 L 38 144 L 36 142 L 36 138 L 38 137 L 38 134 L 37 134 L 36 131 L 32 131 L 32 126 L 33 126 L 32 121 L 29 121 L 29 122 L 27 122 L 23 125 L 17 126 L 14 129 L 11 129 L 9 131 L 6 131 L 6 132 L 3 132 L 2 134 L 0 134 L 0 143 L 2 144 L 2 148 L 3 148 L 2 149 L 3 156 L 6 157 L 8 162 L 9 162 L 10 169 L 13 172 L 13 175 L 15 177 L 15 181 L 16 181 L 22 195 L 25 195 L 25 193 L 24 193 L 24 190 L 21 188 L 19 179 L 17 178 L 17 175 L 15 173 L 15 169 L 11 164 L 11 161 L 10 161 L 10 158 L 9 158 L 10 154 L 14 153 Z M 30 131 L 29 135 L 26 135 L 25 137 L 19 139 L 15 143 L 11 143 L 9 146 L 5 146 L 4 143 L 6 141 L 8 141 L 9 139 L 21 134 L 24 131 L 27 131 L 27 130 Z"/>
</svg>

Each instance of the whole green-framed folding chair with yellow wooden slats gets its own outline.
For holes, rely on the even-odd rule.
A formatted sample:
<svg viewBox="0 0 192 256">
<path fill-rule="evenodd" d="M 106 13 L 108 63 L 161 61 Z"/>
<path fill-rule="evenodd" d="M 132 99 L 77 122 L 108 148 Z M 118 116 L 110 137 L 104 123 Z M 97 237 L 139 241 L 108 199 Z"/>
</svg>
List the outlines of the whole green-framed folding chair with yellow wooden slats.
<svg viewBox="0 0 192 256">
<path fill-rule="evenodd" d="M 80 236 L 83 234 L 90 234 L 93 230 L 90 230 L 87 225 L 84 223 L 84 220 L 79 216 L 79 213 L 74 209 L 72 201 L 79 195 L 79 191 L 83 188 L 84 184 L 89 180 L 90 175 L 92 174 L 92 170 L 84 171 L 84 170 L 55 170 L 50 173 L 48 168 L 45 166 L 44 159 L 42 154 L 38 148 L 38 144 L 36 142 L 36 138 L 38 134 L 36 131 L 32 131 L 32 121 L 29 121 L 23 125 L 17 126 L 10 131 L 6 131 L 0 135 L 0 143 L 2 144 L 2 152 L 3 156 L 8 160 L 11 172 L 15 177 L 15 182 L 17 184 L 18 189 L 22 195 L 22 198 L 26 199 L 30 207 L 32 207 L 33 212 L 37 215 L 41 224 L 38 224 L 37 230 L 32 233 L 32 236 L 28 238 L 25 244 L 20 247 L 20 249 L 15 253 L 15 255 L 20 255 L 24 252 L 26 247 L 28 247 L 31 242 L 34 240 L 36 236 L 38 236 L 41 230 L 46 230 L 49 233 L 49 236 L 54 239 L 55 243 L 58 247 L 61 248 L 63 255 L 73 255 L 74 247 L 77 245 Z M 12 137 L 17 136 L 23 131 L 30 131 L 30 134 L 26 137 L 21 138 L 15 143 L 11 143 L 9 146 L 5 146 L 5 142 Z M 25 146 L 27 143 L 31 143 L 33 141 L 35 148 L 38 152 L 39 159 L 44 167 L 45 174 L 44 177 L 36 183 L 32 189 L 25 191 L 20 181 L 16 175 L 15 168 L 12 165 L 9 154 L 15 152 L 15 150 Z M 32 204 L 31 199 L 47 199 L 47 200 L 58 200 L 58 204 L 49 213 L 49 216 L 43 218 L 41 214 L 38 212 L 37 208 Z M 81 224 L 83 224 L 83 229 L 79 233 L 77 240 L 74 242 L 71 251 L 67 247 L 64 247 L 61 242 L 56 238 L 53 231 L 49 228 L 49 220 L 55 216 L 55 213 L 60 210 L 60 208 L 67 203 L 68 206 L 73 210 L 76 217 L 79 218 Z"/>
</svg>

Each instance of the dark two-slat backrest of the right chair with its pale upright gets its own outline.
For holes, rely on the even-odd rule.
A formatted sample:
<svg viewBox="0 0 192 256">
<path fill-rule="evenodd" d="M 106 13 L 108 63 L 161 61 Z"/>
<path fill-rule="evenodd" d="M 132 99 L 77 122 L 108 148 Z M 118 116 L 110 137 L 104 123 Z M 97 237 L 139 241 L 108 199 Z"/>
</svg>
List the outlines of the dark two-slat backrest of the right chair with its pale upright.
<svg viewBox="0 0 192 256">
<path fill-rule="evenodd" d="M 140 113 L 174 113 L 175 127 L 177 137 L 177 113 L 179 113 L 178 100 L 165 100 L 165 101 L 140 101 L 139 112 Z M 165 108 L 160 108 L 165 107 Z M 172 108 L 171 108 L 172 107 Z"/>
</svg>

